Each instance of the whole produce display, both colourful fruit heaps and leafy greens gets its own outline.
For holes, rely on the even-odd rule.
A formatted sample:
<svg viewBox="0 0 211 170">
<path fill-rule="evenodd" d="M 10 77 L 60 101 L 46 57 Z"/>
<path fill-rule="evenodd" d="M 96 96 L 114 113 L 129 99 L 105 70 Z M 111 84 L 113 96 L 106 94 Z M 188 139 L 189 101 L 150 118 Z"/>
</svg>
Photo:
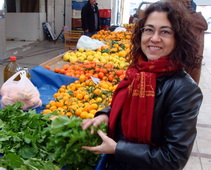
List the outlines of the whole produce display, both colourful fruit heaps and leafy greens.
<svg viewBox="0 0 211 170">
<path fill-rule="evenodd" d="M 21 102 L 0 110 L 0 167 L 93 169 L 102 155 L 81 147 L 100 145 L 102 139 L 90 131 L 93 128 L 95 132 L 100 129 L 106 133 L 106 124 L 84 131 L 81 123 L 111 104 L 112 95 L 130 64 L 130 37 L 129 29 L 101 30 L 92 38 L 103 41 L 105 46 L 95 51 L 83 48 L 68 51 L 52 60 L 59 65 L 45 64 L 43 67 L 48 70 L 78 80 L 62 85 L 41 114 L 36 110 L 23 111 Z"/>
</svg>

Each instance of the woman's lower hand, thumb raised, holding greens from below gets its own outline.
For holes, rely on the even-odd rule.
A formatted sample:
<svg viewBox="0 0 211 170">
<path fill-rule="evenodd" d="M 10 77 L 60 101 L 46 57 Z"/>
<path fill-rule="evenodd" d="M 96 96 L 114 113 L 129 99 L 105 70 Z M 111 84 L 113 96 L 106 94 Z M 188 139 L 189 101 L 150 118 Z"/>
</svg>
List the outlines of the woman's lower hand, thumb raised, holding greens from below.
<svg viewBox="0 0 211 170">
<path fill-rule="evenodd" d="M 117 143 L 106 136 L 101 130 L 98 130 L 97 133 L 103 140 L 102 144 L 94 147 L 82 146 L 82 148 L 94 152 L 95 154 L 114 154 Z"/>
</svg>

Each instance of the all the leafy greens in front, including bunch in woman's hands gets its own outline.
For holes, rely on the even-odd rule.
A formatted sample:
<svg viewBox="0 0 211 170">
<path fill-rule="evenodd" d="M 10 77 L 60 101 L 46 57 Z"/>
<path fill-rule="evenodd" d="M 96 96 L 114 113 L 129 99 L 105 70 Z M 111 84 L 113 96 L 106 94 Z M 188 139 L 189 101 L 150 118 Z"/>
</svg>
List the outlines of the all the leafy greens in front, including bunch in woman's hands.
<svg viewBox="0 0 211 170">
<path fill-rule="evenodd" d="M 0 110 L 0 167 L 9 169 L 93 169 L 101 155 L 81 146 L 101 144 L 101 138 L 82 130 L 79 117 L 37 114 L 17 102 Z M 92 127 L 105 132 L 106 125 Z"/>
</svg>

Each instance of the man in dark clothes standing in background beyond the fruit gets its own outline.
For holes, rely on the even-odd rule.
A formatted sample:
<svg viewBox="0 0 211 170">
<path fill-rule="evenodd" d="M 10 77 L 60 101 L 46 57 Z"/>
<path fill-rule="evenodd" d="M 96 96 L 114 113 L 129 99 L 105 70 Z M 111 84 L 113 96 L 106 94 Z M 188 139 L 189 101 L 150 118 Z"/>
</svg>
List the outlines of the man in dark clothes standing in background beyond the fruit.
<svg viewBox="0 0 211 170">
<path fill-rule="evenodd" d="M 100 30 L 100 17 L 96 0 L 89 0 L 81 10 L 81 22 L 84 35 L 91 37 Z"/>
</svg>

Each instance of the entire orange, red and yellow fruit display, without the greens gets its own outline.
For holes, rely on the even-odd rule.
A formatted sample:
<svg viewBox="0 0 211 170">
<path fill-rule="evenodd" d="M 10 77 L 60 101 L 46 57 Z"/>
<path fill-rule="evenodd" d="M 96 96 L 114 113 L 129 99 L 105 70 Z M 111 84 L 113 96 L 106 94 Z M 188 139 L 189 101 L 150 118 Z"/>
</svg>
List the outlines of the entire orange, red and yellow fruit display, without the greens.
<svg viewBox="0 0 211 170">
<path fill-rule="evenodd" d="M 104 40 L 106 46 L 96 51 L 79 48 L 66 52 L 62 59 L 67 63 L 50 69 L 59 74 L 79 78 L 78 81 L 62 86 L 53 95 L 43 114 L 56 112 L 60 115 L 93 118 L 98 110 L 110 105 L 117 84 L 124 79 L 129 63 L 129 38 L 131 32 L 101 30 L 92 38 Z M 114 38 L 114 37 L 118 37 Z M 127 40 L 127 42 L 123 41 Z M 96 83 L 95 79 L 99 81 Z"/>
</svg>

